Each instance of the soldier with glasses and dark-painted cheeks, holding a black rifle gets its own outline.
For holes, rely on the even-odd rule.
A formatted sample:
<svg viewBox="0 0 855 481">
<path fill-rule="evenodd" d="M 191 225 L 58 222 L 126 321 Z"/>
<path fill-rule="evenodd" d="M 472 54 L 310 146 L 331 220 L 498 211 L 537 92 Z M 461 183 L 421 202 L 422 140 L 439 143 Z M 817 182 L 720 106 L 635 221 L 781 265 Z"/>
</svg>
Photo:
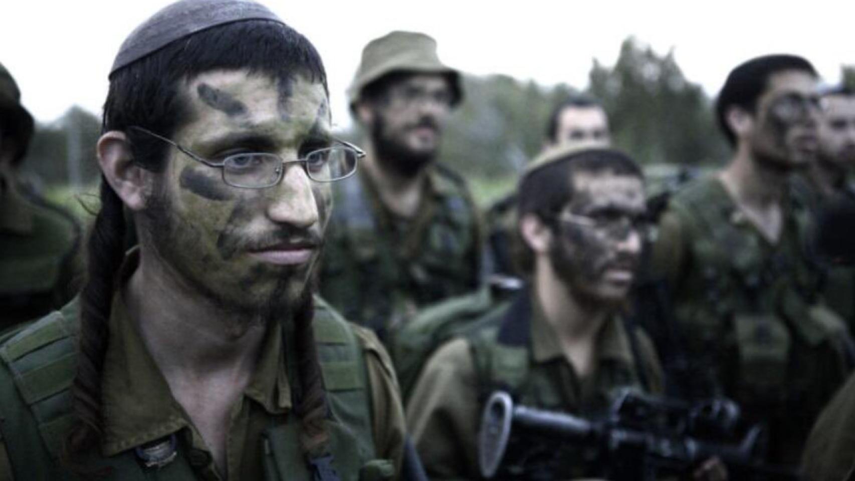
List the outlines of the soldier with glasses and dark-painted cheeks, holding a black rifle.
<svg viewBox="0 0 855 481">
<path fill-rule="evenodd" d="M 652 343 L 621 314 L 645 228 L 639 167 L 616 150 L 573 147 L 548 151 L 533 166 L 518 190 L 517 261 L 528 286 L 512 300 L 455 300 L 414 321 L 480 316 L 478 328 L 430 358 L 407 404 L 431 478 L 481 478 L 476 432 L 494 389 L 583 415 L 602 413 L 616 387 L 662 389 Z M 605 466 L 576 467 L 552 475 L 601 476 Z"/>
</svg>

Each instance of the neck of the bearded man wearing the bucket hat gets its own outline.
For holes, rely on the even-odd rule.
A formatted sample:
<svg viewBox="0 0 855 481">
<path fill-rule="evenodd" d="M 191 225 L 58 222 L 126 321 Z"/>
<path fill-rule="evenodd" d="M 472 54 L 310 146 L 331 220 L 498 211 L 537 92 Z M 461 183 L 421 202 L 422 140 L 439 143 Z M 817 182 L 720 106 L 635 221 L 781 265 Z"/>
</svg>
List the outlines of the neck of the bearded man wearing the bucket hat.
<svg viewBox="0 0 855 481">
<path fill-rule="evenodd" d="M 422 169 L 413 176 L 404 176 L 382 167 L 394 159 L 383 160 L 378 161 L 375 150 L 369 149 L 369 155 L 363 161 L 365 172 L 380 193 L 380 201 L 395 214 L 413 216 L 422 202 L 422 187 L 427 181 L 426 170 Z"/>
</svg>

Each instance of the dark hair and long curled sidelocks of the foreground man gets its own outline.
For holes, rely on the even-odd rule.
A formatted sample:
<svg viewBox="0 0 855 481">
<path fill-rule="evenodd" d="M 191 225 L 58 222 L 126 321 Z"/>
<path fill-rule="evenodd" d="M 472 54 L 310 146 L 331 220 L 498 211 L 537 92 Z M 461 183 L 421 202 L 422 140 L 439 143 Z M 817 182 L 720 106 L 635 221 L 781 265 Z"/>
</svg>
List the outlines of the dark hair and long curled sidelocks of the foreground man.
<svg viewBox="0 0 855 481">
<path fill-rule="evenodd" d="M 295 74 L 304 74 L 327 88 L 321 57 L 308 39 L 275 21 L 233 22 L 181 38 L 111 74 L 104 104 L 103 131 L 125 131 L 134 162 L 145 169 L 161 171 L 166 164 L 168 146 L 127 127 L 144 126 L 171 137 L 190 115 L 186 98 L 181 95 L 182 82 L 215 69 L 240 68 L 266 73 L 280 84 Z M 97 444 L 103 432 L 101 374 L 110 308 L 118 287 L 117 273 L 124 259 L 127 230 L 123 203 L 103 176 L 100 194 L 102 208 L 88 240 L 88 273 L 80 294 L 80 352 L 71 388 L 78 422 L 64 447 L 64 460 L 72 468 L 76 455 Z M 311 320 L 310 313 L 297 317 L 298 323 L 308 324 Z M 326 431 L 318 433 L 316 429 L 306 428 L 307 425 L 322 425 L 315 418 L 320 415 L 323 419 L 326 400 L 320 377 L 316 375 L 320 367 L 311 329 L 299 326 L 297 332 L 304 396 L 296 410 L 304 432 L 315 433 L 311 440 L 301 442 L 308 454 L 315 451 L 318 443 L 326 446 Z"/>
</svg>

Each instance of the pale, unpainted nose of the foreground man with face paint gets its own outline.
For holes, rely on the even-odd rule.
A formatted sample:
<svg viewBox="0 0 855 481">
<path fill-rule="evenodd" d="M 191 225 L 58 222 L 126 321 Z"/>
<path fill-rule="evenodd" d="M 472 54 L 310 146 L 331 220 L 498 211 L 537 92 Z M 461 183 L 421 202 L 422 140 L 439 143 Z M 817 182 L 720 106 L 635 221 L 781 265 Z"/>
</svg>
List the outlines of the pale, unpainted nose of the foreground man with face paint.
<svg viewBox="0 0 855 481">
<path fill-rule="evenodd" d="M 318 209 L 312 180 L 299 163 L 283 166 L 282 181 L 265 193 L 271 198 L 267 205 L 270 220 L 276 223 L 307 229 L 318 221 Z"/>
</svg>

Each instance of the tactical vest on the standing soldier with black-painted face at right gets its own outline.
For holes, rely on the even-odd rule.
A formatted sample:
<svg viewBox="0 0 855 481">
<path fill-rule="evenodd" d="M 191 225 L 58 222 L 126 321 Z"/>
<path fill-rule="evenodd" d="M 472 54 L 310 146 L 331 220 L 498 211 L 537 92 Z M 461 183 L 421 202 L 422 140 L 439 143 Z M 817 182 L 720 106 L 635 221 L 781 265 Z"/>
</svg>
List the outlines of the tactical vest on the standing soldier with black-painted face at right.
<svg viewBox="0 0 855 481">
<path fill-rule="evenodd" d="M 806 258 L 804 239 L 781 239 L 795 242 L 795 255 L 764 255 L 757 236 L 732 225 L 728 215 L 735 211 L 718 200 L 723 194 L 717 182 L 700 179 L 669 204 L 686 229 L 693 259 L 693 272 L 680 286 L 687 294 L 675 296 L 675 319 L 700 380 L 690 396 L 735 396 L 758 412 L 792 406 L 804 394 L 799 390 L 810 389 L 810 379 L 788 375 L 793 345 L 836 348 L 846 342 L 845 326 L 817 303 L 818 273 Z M 804 236 L 809 211 L 794 201 L 789 208 L 784 232 Z M 735 353 L 724 349 L 730 345 Z"/>
</svg>

